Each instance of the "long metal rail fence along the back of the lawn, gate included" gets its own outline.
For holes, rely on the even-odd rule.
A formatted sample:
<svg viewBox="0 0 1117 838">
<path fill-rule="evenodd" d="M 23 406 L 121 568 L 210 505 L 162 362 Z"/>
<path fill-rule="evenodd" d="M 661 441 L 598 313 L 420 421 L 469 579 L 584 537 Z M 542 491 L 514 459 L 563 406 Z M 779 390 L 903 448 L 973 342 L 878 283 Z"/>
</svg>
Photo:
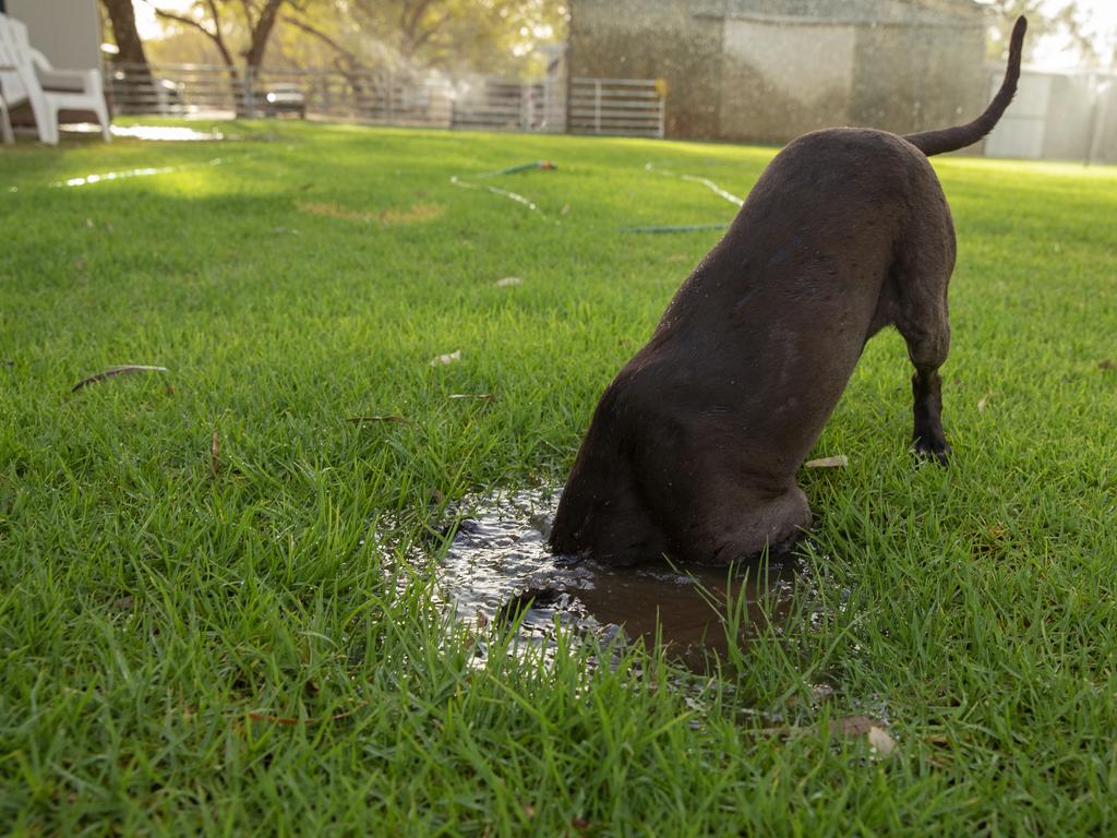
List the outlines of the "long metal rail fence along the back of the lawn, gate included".
<svg viewBox="0 0 1117 838">
<path fill-rule="evenodd" d="M 384 125 L 486 131 L 663 135 L 663 99 L 640 79 L 450 79 L 389 70 L 220 65 L 116 65 L 113 108 L 169 116 L 317 116 Z"/>
</svg>

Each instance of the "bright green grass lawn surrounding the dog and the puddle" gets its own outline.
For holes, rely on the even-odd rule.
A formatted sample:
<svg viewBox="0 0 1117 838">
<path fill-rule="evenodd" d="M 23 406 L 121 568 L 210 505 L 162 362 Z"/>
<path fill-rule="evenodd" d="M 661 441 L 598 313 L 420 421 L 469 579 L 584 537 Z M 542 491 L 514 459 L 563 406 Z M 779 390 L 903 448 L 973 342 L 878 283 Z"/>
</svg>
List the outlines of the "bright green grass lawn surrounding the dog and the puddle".
<svg viewBox="0 0 1117 838">
<path fill-rule="evenodd" d="M 951 467 L 882 334 L 802 475 L 818 583 L 671 688 L 472 666 L 401 554 L 432 497 L 561 483 L 717 240 L 617 231 L 734 212 L 645 164 L 743 196 L 774 151 L 221 130 L 0 151 L 0 832 L 1117 830 L 1117 171 L 936 161 Z M 538 211 L 450 182 L 541 158 L 474 181 Z M 71 392 L 124 363 L 169 371 Z"/>
</svg>

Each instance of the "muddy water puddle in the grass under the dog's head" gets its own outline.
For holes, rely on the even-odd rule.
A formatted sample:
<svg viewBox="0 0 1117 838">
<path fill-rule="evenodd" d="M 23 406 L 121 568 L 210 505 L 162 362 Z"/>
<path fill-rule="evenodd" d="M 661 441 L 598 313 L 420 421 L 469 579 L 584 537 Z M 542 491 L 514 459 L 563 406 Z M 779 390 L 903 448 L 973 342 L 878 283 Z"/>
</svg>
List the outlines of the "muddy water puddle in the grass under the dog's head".
<svg viewBox="0 0 1117 838">
<path fill-rule="evenodd" d="M 727 647 L 733 603 L 745 640 L 779 623 L 802 581 L 795 559 L 733 569 L 671 566 L 666 561 L 610 569 L 556 556 L 546 545 L 558 492 L 474 498 L 458 508 L 457 531 L 438 571 L 437 591 L 456 617 L 479 629 L 522 616 L 519 636 L 548 650 L 556 626 L 567 636 L 642 640 L 657 632 L 668 654 L 704 670 Z M 744 601 L 742 601 L 742 597 Z M 480 632 L 478 632 L 480 634 Z"/>
</svg>

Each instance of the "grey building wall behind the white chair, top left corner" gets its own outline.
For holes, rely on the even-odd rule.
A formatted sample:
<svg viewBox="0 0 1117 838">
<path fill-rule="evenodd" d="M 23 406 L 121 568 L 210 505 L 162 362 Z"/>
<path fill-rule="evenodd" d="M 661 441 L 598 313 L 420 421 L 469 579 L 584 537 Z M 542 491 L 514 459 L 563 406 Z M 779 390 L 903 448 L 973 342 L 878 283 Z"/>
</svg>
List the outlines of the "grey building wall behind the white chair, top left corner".
<svg viewBox="0 0 1117 838">
<path fill-rule="evenodd" d="M 27 23 L 31 46 L 56 67 L 101 66 L 96 0 L 6 0 L 8 15 Z"/>
</svg>

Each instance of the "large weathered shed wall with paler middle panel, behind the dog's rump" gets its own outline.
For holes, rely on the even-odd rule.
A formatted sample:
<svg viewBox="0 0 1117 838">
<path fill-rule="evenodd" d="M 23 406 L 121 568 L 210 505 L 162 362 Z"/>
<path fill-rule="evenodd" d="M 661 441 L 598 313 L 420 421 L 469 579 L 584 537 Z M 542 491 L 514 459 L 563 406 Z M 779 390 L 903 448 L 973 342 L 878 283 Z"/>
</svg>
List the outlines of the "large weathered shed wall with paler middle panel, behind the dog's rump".
<svg viewBox="0 0 1117 838">
<path fill-rule="evenodd" d="M 985 106 L 965 0 L 572 0 L 575 75 L 666 78 L 667 135 L 785 142 L 953 125 Z"/>
</svg>

